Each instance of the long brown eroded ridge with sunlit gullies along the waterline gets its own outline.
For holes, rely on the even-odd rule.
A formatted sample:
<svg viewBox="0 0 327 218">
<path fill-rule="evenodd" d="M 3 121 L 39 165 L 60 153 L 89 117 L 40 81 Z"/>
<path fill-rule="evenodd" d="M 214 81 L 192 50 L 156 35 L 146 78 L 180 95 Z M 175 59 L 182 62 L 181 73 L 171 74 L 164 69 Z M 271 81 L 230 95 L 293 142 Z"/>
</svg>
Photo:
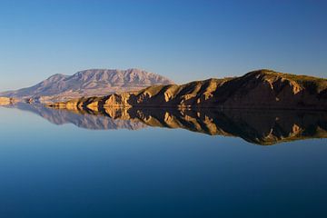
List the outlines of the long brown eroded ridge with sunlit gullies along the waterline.
<svg viewBox="0 0 327 218">
<path fill-rule="evenodd" d="M 240 77 L 153 85 L 141 91 L 79 98 L 59 108 L 199 107 L 327 110 L 327 79 L 258 70 Z"/>
</svg>

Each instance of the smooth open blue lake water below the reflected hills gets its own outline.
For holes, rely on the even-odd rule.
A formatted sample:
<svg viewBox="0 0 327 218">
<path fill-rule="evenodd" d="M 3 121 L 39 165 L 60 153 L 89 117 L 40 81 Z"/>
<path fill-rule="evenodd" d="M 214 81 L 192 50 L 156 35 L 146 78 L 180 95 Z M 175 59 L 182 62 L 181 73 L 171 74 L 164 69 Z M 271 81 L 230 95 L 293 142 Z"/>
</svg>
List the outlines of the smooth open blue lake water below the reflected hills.
<svg viewBox="0 0 327 218">
<path fill-rule="evenodd" d="M 75 116 L 0 107 L 1 217 L 327 217 L 326 139 L 264 146 Z"/>
</svg>

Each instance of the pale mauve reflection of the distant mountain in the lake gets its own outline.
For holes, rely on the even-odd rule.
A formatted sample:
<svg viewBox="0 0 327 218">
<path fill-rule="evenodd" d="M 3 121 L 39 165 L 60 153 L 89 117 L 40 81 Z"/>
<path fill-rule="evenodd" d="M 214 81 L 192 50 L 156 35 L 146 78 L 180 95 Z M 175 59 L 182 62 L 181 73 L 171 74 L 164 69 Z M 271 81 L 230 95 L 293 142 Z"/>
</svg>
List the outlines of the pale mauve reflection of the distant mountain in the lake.
<svg viewBox="0 0 327 218">
<path fill-rule="evenodd" d="M 132 120 L 112 119 L 104 115 L 92 115 L 86 112 L 74 113 L 66 110 L 53 110 L 46 108 L 41 104 L 12 104 L 8 107 L 14 107 L 23 111 L 29 111 L 38 114 L 51 122 L 52 124 L 74 124 L 78 127 L 93 130 L 106 129 L 130 129 L 137 130 L 146 127 L 146 124 Z"/>
</svg>

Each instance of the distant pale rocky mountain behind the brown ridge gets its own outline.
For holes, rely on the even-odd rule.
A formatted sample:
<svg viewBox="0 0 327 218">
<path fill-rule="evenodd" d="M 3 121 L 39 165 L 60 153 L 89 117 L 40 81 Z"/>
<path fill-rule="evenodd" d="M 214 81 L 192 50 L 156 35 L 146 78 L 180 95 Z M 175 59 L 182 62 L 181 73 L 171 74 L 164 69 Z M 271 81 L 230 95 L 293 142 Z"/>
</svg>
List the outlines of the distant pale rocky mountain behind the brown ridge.
<svg viewBox="0 0 327 218">
<path fill-rule="evenodd" d="M 134 68 L 127 70 L 92 69 L 73 75 L 54 74 L 32 87 L 0 95 L 54 102 L 82 96 L 136 91 L 155 84 L 173 84 L 173 81 L 162 75 Z"/>
</svg>

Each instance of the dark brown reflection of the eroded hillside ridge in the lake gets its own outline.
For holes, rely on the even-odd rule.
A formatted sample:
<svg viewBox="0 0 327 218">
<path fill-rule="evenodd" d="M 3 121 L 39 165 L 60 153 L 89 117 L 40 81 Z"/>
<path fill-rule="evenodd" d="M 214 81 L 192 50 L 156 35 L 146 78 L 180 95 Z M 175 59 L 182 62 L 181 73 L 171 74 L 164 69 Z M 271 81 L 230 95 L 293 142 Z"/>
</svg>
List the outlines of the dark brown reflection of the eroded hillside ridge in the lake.
<svg viewBox="0 0 327 218">
<path fill-rule="evenodd" d="M 173 110 L 151 108 L 85 108 L 113 119 L 139 121 L 153 127 L 183 128 L 197 133 L 241 137 L 253 144 L 277 144 L 327 138 L 327 113 L 244 110 Z"/>
</svg>

